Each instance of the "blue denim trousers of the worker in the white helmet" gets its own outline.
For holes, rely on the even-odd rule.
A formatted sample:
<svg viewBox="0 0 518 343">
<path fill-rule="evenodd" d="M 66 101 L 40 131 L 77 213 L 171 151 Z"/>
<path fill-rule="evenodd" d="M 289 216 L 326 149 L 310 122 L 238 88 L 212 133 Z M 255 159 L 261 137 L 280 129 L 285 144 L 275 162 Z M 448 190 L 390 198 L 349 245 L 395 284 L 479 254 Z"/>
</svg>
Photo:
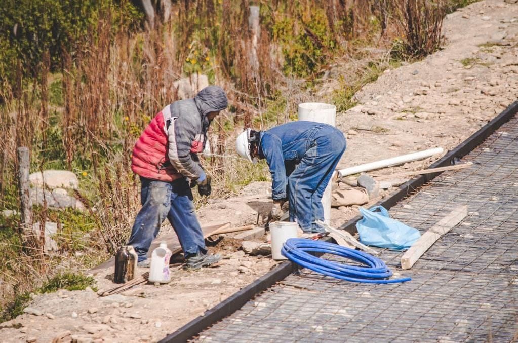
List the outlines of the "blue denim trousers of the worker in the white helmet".
<svg viewBox="0 0 518 343">
<path fill-rule="evenodd" d="M 343 134 L 336 128 L 321 128 L 288 177 L 290 221 L 296 220 L 304 232 L 321 229 L 315 221 L 324 220 L 322 196 L 344 151 Z"/>
</svg>

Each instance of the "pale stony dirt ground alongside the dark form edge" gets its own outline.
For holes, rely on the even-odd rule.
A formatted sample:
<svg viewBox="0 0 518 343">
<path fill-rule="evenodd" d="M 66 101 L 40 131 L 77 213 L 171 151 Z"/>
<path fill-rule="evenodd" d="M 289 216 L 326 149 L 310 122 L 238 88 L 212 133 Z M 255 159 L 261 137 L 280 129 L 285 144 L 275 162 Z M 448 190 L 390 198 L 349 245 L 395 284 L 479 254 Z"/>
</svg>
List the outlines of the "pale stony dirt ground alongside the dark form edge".
<svg viewBox="0 0 518 343">
<path fill-rule="evenodd" d="M 356 94 L 358 106 L 337 113 L 337 126 L 347 135 L 348 145 L 339 168 L 433 147 L 452 149 L 518 100 L 515 1 L 472 4 L 449 15 L 443 30 L 443 50 L 387 70 Z M 332 88 L 333 81 L 325 87 Z M 440 157 L 376 173 L 422 169 Z M 200 209 L 200 222 L 261 224 L 271 206 L 270 192 L 269 182 L 252 183 L 239 197 L 212 201 Z M 357 213 L 357 206 L 333 208 L 332 225 L 340 226 Z M 222 262 L 198 271 L 177 269 L 166 285 L 141 285 L 107 297 L 92 290 L 37 295 L 27 310 L 31 313 L 0 325 L 0 340 L 160 340 L 277 265 L 265 256 L 248 256 L 239 247 L 238 241 L 224 238 L 211 248 L 225 255 Z M 95 276 L 99 289 L 113 287 L 110 273 Z"/>
</svg>

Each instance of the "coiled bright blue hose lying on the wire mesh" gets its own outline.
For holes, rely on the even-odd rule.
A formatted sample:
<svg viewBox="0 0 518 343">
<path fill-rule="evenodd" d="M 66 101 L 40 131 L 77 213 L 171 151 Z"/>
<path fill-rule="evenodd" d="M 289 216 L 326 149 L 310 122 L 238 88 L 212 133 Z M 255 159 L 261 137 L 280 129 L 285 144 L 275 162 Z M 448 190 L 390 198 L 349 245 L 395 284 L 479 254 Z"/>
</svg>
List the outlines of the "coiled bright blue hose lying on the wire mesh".
<svg viewBox="0 0 518 343">
<path fill-rule="evenodd" d="M 342 256 L 343 258 L 367 265 L 368 267 L 350 266 L 320 259 L 307 253 L 308 251 Z M 318 240 L 290 238 L 284 243 L 281 253 L 286 256 L 287 259 L 302 267 L 341 280 L 367 283 L 396 283 L 411 280 L 411 278 L 408 277 L 387 280 L 385 278 L 391 277 L 392 271 L 377 257 L 363 251 Z"/>
</svg>

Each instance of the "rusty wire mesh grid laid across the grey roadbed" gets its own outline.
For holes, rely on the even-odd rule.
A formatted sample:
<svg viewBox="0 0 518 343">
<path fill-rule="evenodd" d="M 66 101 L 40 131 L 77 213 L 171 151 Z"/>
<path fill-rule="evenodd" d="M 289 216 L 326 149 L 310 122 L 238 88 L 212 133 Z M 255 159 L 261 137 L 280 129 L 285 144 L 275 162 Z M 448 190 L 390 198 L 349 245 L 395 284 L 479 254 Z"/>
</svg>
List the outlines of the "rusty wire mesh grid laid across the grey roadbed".
<svg viewBox="0 0 518 343">
<path fill-rule="evenodd" d="M 517 155 L 513 118 L 465 156 L 473 166 L 441 174 L 391 209 L 425 232 L 455 207 L 468 206 L 468 216 L 412 269 L 400 269 L 401 252 L 382 251 L 395 277 L 412 281 L 351 283 L 302 269 L 194 340 L 518 340 Z"/>
</svg>

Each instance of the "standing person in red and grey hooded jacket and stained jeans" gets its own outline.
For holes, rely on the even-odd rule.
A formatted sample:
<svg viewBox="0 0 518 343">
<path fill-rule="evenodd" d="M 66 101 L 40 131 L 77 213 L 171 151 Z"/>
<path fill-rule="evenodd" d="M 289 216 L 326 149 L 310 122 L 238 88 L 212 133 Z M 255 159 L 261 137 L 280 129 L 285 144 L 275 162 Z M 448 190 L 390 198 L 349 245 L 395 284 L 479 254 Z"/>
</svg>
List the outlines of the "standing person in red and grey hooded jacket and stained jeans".
<svg viewBox="0 0 518 343">
<path fill-rule="evenodd" d="M 197 269 L 221 259 L 207 253 L 191 187 L 197 185 L 200 195 L 211 193 L 210 176 L 197 153 L 203 151 L 211 121 L 226 107 L 223 89 L 206 87 L 193 99 L 167 105 L 137 140 L 132 170 L 140 176 L 142 208 L 127 245 L 135 248 L 139 267 L 149 268 L 147 253 L 165 218 L 178 236 L 187 268 Z"/>
</svg>

